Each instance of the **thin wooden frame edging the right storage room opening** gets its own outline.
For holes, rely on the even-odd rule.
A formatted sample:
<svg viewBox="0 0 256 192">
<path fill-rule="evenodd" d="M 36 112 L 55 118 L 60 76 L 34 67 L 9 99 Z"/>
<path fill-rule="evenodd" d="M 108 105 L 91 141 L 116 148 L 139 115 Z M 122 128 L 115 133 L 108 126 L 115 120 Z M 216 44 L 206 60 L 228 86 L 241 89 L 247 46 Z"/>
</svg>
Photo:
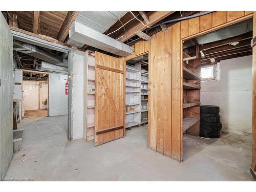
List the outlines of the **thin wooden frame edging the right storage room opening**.
<svg viewBox="0 0 256 192">
<path fill-rule="evenodd" d="M 243 17 L 240 17 L 238 19 L 234 19 L 234 20 L 231 20 L 230 22 L 227 22 L 227 23 L 224 23 L 222 25 L 219 25 L 219 26 L 216 26 L 216 27 L 212 27 L 208 30 L 205 30 L 205 31 L 202 31 L 202 32 L 199 32 L 199 33 L 196 33 L 196 34 L 193 34 L 193 35 L 190 35 L 190 36 L 187 36 L 187 37 L 184 37 L 184 38 L 181 38 L 181 41 L 180 41 L 180 45 L 181 45 L 181 50 L 180 50 L 180 55 L 181 55 L 181 58 L 180 58 L 180 65 L 181 65 L 181 73 L 182 73 L 182 77 L 183 77 L 183 43 L 184 41 L 186 40 L 189 40 L 189 39 L 193 39 L 195 37 L 198 37 L 198 36 L 201 36 L 201 35 L 204 35 L 204 34 L 207 34 L 207 33 L 210 33 L 210 32 L 213 32 L 213 31 L 216 31 L 216 30 L 219 30 L 219 29 L 222 29 L 222 28 L 225 28 L 225 27 L 228 27 L 230 25 L 234 25 L 234 24 L 237 24 L 237 23 L 240 23 L 240 22 L 243 22 L 244 20 L 247 20 L 247 19 L 250 19 L 250 18 L 253 18 L 253 14 L 254 14 L 254 17 L 256 17 L 256 12 L 252 12 L 248 15 L 245 15 Z M 255 18 L 254 18 L 255 20 Z M 253 25 L 256 25 L 256 24 L 253 24 Z M 255 32 L 254 32 L 255 33 Z M 253 56 L 253 53 L 252 53 L 252 56 Z M 255 62 L 255 61 L 254 61 Z M 254 63 L 254 65 L 256 65 L 256 63 Z M 253 61 L 252 61 L 252 70 L 253 70 L 253 73 L 256 74 L 256 67 L 253 68 Z M 182 81 L 181 81 L 181 95 L 183 97 L 183 85 L 182 85 Z M 254 82 L 252 80 L 252 88 L 256 86 L 256 81 Z M 252 93 L 253 94 L 253 93 Z M 182 103 L 181 103 L 182 104 Z M 255 106 L 256 105 L 256 99 L 255 97 L 252 98 L 252 106 Z M 253 110 L 253 109 L 252 109 Z M 252 133 L 253 132 L 256 132 L 256 127 L 253 126 L 253 123 L 256 123 L 256 116 L 253 115 L 253 113 L 256 113 L 256 109 L 254 109 L 254 111 L 252 111 Z M 183 113 L 181 113 L 181 130 L 182 130 L 182 123 L 183 123 Z M 254 142 L 253 142 L 254 141 Z M 181 131 L 181 157 L 183 157 L 183 134 L 182 134 L 182 131 Z M 256 143 L 256 138 L 255 136 L 253 137 L 252 135 L 252 155 L 253 155 L 253 150 L 255 151 L 256 150 L 256 147 L 253 146 L 253 143 L 255 145 Z M 254 152 L 256 153 L 256 152 Z M 255 172 L 256 171 L 256 159 L 253 159 L 252 157 L 252 163 L 251 163 L 251 166 L 252 166 L 252 170 Z"/>
</svg>

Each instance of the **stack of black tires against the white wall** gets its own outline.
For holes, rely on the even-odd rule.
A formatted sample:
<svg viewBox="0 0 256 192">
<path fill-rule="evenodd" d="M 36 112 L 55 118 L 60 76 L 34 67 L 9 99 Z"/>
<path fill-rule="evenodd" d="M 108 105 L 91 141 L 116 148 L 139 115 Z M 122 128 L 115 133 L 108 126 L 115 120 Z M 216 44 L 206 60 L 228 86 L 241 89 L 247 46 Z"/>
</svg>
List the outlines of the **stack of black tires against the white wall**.
<svg viewBox="0 0 256 192">
<path fill-rule="evenodd" d="M 219 106 L 200 105 L 200 137 L 220 137 L 222 124 L 219 113 Z"/>
</svg>

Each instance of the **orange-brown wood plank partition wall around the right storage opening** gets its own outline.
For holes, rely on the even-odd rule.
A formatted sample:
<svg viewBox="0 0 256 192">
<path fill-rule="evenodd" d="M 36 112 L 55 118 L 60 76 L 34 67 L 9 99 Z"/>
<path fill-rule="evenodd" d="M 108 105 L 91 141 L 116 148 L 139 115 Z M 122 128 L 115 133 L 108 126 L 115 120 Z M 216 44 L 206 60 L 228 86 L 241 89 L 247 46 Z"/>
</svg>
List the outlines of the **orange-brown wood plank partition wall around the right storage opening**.
<svg viewBox="0 0 256 192">
<path fill-rule="evenodd" d="M 135 53 L 125 60 L 149 54 L 148 147 L 178 161 L 183 159 L 183 41 L 252 16 L 251 11 L 216 11 L 154 34 L 150 46 L 147 41 L 135 44 Z M 253 102 L 255 105 L 255 99 Z"/>
</svg>

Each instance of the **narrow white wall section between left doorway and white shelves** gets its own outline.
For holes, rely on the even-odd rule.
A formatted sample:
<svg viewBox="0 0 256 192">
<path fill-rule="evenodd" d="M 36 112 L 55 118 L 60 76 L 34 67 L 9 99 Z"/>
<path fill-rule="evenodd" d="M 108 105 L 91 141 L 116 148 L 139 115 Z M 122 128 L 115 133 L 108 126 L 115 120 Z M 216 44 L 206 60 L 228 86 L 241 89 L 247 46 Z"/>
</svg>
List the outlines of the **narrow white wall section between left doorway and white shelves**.
<svg viewBox="0 0 256 192">
<path fill-rule="evenodd" d="M 72 102 L 71 102 L 71 127 L 73 140 L 84 138 L 86 125 L 86 79 L 87 66 L 84 64 L 87 52 L 74 51 L 72 57 Z"/>
</svg>

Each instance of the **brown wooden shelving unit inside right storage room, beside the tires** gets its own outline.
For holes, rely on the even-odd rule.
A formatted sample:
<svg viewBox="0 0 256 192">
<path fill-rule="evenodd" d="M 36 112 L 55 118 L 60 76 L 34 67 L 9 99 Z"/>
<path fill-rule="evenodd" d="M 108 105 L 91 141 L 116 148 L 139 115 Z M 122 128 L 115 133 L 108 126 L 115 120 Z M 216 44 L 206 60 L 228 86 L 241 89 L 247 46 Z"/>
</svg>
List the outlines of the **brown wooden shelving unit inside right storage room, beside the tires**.
<svg viewBox="0 0 256 192">
<path fill-rule="evenodd" d="M 183 52 L 183 133 L 199 136 L 201 59 Z"/>
</svg>

